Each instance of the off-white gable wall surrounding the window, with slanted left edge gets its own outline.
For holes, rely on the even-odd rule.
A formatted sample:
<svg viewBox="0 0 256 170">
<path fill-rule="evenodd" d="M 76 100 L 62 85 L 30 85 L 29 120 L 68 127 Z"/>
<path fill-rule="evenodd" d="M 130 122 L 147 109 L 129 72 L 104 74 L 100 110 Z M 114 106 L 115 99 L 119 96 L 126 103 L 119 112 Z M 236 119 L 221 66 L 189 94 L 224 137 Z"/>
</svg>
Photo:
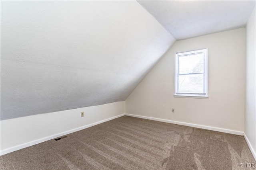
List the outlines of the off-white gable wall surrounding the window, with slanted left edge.
<svg viewBox="0 0 256 170">
<path fill-rule="evenodd" d="M 204 47 L 209 51 L 209 98 L 174 98 L 174 53 Z M 176 41 L 125 101 L 125 113 L 243 134 L 244 75 L 244 28 Z"/>
</svg>

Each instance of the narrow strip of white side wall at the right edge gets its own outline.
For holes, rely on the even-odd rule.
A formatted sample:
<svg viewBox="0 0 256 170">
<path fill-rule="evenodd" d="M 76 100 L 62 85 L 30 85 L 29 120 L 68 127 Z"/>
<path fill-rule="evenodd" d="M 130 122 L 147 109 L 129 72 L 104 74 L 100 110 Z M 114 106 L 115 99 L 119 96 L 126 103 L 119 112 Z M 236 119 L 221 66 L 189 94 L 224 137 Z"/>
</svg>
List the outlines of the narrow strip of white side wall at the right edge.
<svg viewBox="0 0 256 170">
<path fill-rule="evenodd" d="M 246 25 L 245 126 L 248 145 L 256 159 L 256 27 L 255 8 Z"/>
</svg>

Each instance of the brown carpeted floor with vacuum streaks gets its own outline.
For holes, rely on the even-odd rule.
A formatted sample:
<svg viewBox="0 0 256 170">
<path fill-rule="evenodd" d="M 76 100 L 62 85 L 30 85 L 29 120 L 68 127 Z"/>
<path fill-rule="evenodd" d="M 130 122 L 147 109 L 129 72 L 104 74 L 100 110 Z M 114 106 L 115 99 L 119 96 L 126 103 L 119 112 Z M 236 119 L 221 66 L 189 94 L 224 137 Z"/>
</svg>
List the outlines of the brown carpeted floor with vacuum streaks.
<svg viewBox="0 0 256 170">
<path fill-rule="evenodd" d="M 236 170 L 256 163 L 243 136 L 123 116 L 18 150 L 3 170 Z"/>
</svg>

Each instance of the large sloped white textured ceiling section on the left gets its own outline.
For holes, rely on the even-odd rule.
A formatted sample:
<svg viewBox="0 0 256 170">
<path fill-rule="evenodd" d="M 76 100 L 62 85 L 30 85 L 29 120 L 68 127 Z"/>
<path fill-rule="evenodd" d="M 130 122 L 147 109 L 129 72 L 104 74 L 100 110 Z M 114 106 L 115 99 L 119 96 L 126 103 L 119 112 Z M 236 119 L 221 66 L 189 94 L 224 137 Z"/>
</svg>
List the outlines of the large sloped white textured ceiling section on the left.
<svg viewBox="0 0 256 170">
<path fill-rule="evenodd" d="M 136 1 L 2 1 L 1 120 L 124 101 L 174 41 Z"/>
</svg>

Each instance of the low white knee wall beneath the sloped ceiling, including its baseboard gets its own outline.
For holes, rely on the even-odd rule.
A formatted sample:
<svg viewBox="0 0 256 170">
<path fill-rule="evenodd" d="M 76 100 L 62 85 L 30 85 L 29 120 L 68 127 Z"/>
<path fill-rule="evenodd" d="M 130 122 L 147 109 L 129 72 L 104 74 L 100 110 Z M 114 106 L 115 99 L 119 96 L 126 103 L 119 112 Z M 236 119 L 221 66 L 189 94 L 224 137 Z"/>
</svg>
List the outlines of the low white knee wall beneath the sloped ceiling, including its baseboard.
<svg viewBox="0 0 256 170">
<path fill-rule="evenodd" d="M 84 111 L 84 117 L 80 112 Z M 54 139 L 124 115 L 124 102 L 0 121 L 1 154 Z"/>
</svg>

